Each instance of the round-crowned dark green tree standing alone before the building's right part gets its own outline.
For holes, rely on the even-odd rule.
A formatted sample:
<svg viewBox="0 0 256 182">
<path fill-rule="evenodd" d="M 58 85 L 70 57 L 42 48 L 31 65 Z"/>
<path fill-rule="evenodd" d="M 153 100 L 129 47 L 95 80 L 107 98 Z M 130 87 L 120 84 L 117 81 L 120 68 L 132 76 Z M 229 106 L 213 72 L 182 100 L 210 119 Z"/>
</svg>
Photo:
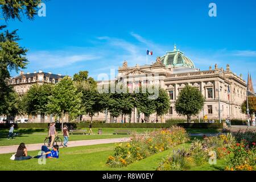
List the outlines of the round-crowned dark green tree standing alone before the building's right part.
<svg viewBox="0 0 256 182">
<path fill-rule="evenodd" d="M 204 102 L 205 98 L 200 90 L 187 85 L 177 97 L 175 110 L 179 115 L 187 115 L 187 121 L 191 122 L 191 116 L 199 114 L 204 107 Z"/>
</svg>

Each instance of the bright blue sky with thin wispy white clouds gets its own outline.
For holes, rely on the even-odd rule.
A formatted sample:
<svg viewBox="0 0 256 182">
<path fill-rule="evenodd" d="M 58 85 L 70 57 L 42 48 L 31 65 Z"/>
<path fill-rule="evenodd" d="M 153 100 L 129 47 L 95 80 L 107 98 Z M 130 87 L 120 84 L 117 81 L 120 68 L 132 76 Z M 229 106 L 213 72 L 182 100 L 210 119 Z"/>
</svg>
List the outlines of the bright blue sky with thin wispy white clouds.
<svg viewBox="0 0 256 182">
<path fill-rule="evenodd" d="M 211 2 L 217 17 L 208 15 Z M 25 72 L 72 76 L 88 70 L 97 78 L 123 60 L 130 66 L 145 64 L 146 49 L 153 51 L 151 63 L 176 43 L 197 68 L 230 64 L 245 80 L 250 71 L 256 86 L 255 20 L 255 0 L 51 0 L 46 17 L 11 20 L 8 26 L 19 29 L 19 43 L 29 49 Z"/>
</svg>

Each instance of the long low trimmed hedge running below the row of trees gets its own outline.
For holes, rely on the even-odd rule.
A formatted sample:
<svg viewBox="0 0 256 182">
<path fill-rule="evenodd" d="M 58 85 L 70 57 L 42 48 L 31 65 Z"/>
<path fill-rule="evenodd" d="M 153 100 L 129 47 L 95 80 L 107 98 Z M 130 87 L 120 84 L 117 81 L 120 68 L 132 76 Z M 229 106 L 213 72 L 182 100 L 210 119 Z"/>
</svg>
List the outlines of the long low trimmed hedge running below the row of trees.
<svg viewBox="0 0 256 182">
<path fill-rule="evenodd" d="M 68 127 L 86 128 L 88 123 L 65 123 Z M 0 124 L 0 128 L 7 129 L 11 124 Z M 47 129 L 49 123 L 19 123 L 15 128 L 40 128 Z M 193 129 L 222 129 L 223 123 L 93 123 L 94 128 L 168 128 L 171 126 L 182 126 Z M 61 128 L 61 123 L 56 123 L 56 128 Z"/>
</svg>

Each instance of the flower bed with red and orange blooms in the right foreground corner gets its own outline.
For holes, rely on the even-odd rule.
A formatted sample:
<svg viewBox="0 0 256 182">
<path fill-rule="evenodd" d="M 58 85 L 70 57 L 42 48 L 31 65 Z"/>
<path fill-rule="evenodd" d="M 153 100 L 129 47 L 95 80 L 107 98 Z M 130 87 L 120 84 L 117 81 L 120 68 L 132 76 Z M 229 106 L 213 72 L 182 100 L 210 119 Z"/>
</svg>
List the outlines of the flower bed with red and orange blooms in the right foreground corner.
<svg viewBox="0 0 256 182">
<path fill-rule="evenodd" d="M 255 142 L 246 139 L 253 134 L 219 135 L 218 137 L 205 137 L 204 140 L 193 140 L 189 150 L 176 150 L 168 156 L 158 168 L 159 171 L 187 170 L 193 166 L 202 166 L 207 162 L 217 159 L 225 159 L 225 170 L 251 171 L 256 170 L 256 148 Z M 240 143 L 236 143 L 241 140 Z"/>
</svg>

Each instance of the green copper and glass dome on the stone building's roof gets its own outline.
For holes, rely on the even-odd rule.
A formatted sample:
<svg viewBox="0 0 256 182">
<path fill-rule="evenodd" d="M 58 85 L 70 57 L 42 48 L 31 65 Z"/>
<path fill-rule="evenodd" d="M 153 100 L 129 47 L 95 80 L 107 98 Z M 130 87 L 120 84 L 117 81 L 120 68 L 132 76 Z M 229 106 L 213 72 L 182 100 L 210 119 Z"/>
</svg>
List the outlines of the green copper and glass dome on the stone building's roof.
<svg viewBox="0 0 256 182">
<path fill-rule="evenodd" d="M 174 45 L 174 51 L 166 52 L 166 55 L 161 57 L 161 62 L 168 66 L 172 67 L 186 67 L 186 68 L 195 68 L 195 64 L 191 59 L 186 57 L 183 52 L 180 52 L 176 49 L 176 45 Z"/>
</svg>

